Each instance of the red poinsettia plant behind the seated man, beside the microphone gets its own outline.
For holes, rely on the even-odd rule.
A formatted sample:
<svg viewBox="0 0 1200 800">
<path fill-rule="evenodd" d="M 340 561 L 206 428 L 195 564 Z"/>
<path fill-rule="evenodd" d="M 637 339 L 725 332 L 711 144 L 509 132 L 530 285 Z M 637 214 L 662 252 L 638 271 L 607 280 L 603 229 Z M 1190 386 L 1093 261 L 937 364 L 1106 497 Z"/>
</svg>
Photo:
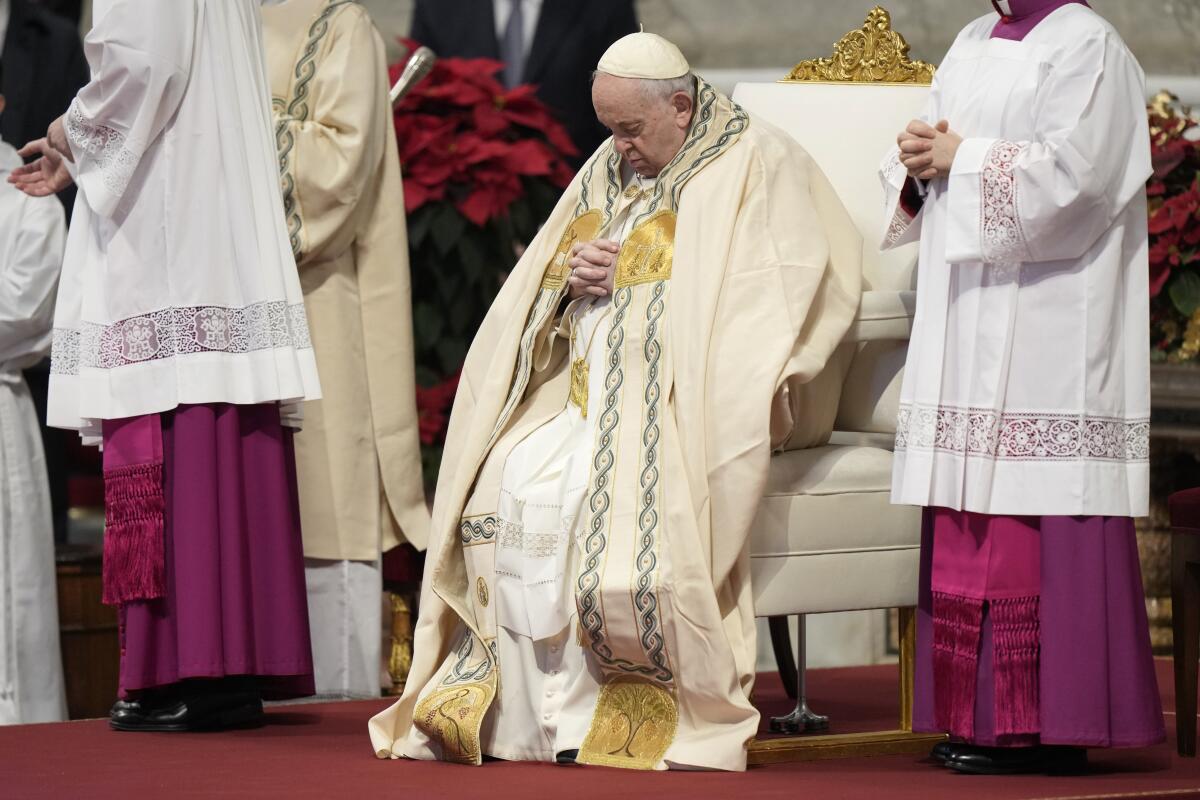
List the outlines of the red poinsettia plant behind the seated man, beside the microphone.
<svg viewBox="0 0 1200 800">
<path fill-rule="evenodd" d="M 419 46 L 402 40 L 408 53 Z M 391 66 L 391 79 L 404 62 Z M 490 59 L 440 59 L 395 110 L 404 178 L 418 413 L 426 477 L 440 462 L 470 339 L 571 181 L 577 155 L 533 85 Z"/>
</svg>

